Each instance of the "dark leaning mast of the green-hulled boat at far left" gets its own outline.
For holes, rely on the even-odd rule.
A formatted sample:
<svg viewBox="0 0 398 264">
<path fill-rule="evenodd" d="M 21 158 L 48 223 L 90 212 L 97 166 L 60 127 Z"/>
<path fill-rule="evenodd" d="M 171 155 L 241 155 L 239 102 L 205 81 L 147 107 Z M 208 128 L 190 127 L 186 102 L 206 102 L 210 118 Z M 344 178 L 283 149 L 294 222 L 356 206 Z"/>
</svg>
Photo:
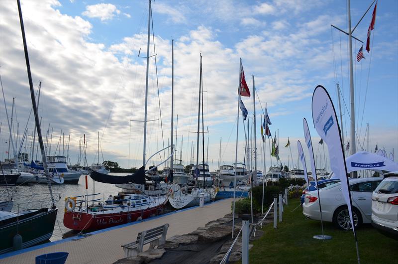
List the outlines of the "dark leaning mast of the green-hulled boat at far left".
<svg viewBox="0 0 398 264">
<path fill-rule="evenodd" d="M 21 3 L 19 2 L 19 0 L 17 0 L 17 4 L 18 4 L 19 21 L 20 21 L 20 24 L 21 24 L 21 31 L 22 31 L 23 49 L 25 51 L 26 69 L 27 69 L 27 72 L 28 72 L 28 79 L 29 79 L 30 98 L 32 100 L 32 107 L 33 107 L 33 113 L 34 113 L 34 118 L 35 118 L 35 124 L 36 124 L 37 134 L 38 134 L 38 137 L 39 137 L 39 144 L 40 144 L 40 150 L 41 150 L 41 159 L 43 161 L 44 174 L 47 176 L 47 185 L 48 185 L 48 189 L 50 191 L 50 196 L 51 196 L 51 200 L 52 200 L 52 203 L 53 203 L 53 208 L 55 208 L 53 192 L 52 192 L 52 189 L 51 189 L 50 176 L 48 174 L 48 169 L 47 169 L 46 153 L 44 152 L 43 138 L 41 136 L 41 128 L 40 128 L 40 124 L 39 124 L 39 116 L 38 116 L 37 107 L 36 107 L 36 99 L 35 99 L 35 96 L 34 96 L 32 74 L 30 73 L 28 47 L 27 47 L 27 44 L 26 44 L 25 29 L 24 29 L 24 26 L 23 26 L 23 19 L 22 19 Z"/>
</svg>

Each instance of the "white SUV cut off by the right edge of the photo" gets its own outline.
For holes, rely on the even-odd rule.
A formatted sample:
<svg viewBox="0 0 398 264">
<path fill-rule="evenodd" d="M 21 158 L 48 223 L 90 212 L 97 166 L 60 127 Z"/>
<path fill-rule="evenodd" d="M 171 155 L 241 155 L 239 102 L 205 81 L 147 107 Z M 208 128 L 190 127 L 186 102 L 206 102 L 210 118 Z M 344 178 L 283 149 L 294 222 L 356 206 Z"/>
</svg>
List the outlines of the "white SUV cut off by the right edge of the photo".
<svg viewBox="0 0 398 264">
<path fill-rule="evenodd" d="M 373 192 L 372 225 L 398 239 L 398 173 L 385 177 Z"/>
</svg>

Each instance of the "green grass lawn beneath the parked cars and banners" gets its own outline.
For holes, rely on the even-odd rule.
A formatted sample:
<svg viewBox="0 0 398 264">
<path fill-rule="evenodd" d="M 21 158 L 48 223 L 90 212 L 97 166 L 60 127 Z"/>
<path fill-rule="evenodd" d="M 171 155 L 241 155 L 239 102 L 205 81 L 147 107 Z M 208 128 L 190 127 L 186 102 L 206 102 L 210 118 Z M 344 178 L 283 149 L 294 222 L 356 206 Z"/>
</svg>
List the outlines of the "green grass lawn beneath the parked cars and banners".
<svg viewBox="0 0 398 264">
<path fill-rule="evenodd" d="M 249 263 L 357 263 L 355 240 L 352 231 L 337 229 L 332 223 L 324 222 L 324 234 L 331 240 L 313 239 L 321 235 L 319 221 L 306 219 L 298 199 L 285 206 L 283 221 L 278 229 L 273 224 L 263 227 L 264 236 L 252 242 Z M 398 241 L 380 234 L 370 224 L 357 230 L 361 264 L 398 263 Z"/>
</svg>

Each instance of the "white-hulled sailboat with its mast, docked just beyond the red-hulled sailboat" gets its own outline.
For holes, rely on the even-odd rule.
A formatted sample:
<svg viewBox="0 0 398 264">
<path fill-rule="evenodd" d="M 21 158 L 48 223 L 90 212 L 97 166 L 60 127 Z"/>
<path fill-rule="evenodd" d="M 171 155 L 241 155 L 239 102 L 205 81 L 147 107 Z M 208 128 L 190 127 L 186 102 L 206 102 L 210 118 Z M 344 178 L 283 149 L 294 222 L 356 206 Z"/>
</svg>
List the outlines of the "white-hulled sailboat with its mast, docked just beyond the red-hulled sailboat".
<svg viewBox="0 0 398 264">
<path fill-rule="evenodd" d="M 199 129 L 200 129 L 200 107 L 202 107 L 202 134 L 203 129 L 203 102 L 200 105 L 200 97 L 203 99 L 203 82 L 202 82 L 202 55 L 200 54 L 200 75 L 199 75 L 199 111 L 198 111 L 198 146 L 199 146 Z M 202 100 L 203 101 L 203 100 Z M 202 138 L 202 149 L 203 149 L 203 162 L 199 164 L 199 147 L 197 148 L 197 162 L 196 166 L 191 169 L 191 175 L 196 179 L 196 186 L 184 186 L 178 191 L 170 190 L 169 203 L 176 209 L 182 209 L 185 207 L 191 207 L 199 205 L 200 198 L 204 199 L 204 202 L 209 202 L 212 198 L 212 192 L 208 189 L 199 188 L 201 186 L 211 186 L 213 179 L 211 178 L 208 165 L 204 163 L 204 136 Z M 212 189 L 211 189 L 212 190 Z"/>
</svg>

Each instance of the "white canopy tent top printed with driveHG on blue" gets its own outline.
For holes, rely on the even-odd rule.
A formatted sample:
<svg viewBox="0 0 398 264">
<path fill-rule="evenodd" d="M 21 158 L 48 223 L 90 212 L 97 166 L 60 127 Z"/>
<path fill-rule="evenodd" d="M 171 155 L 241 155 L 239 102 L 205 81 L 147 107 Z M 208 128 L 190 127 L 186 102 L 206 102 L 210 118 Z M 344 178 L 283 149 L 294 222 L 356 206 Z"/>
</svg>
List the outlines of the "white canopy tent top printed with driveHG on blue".
<svg viewBox="0 0 398 264">
<path fill-rule="evenodd" d="M 346 158 L 347 171 L 373 170 L 379 173 L 398 171 L 398 164 L 385 156 L 367 151 L 357 152 Z"/>
</svg>

